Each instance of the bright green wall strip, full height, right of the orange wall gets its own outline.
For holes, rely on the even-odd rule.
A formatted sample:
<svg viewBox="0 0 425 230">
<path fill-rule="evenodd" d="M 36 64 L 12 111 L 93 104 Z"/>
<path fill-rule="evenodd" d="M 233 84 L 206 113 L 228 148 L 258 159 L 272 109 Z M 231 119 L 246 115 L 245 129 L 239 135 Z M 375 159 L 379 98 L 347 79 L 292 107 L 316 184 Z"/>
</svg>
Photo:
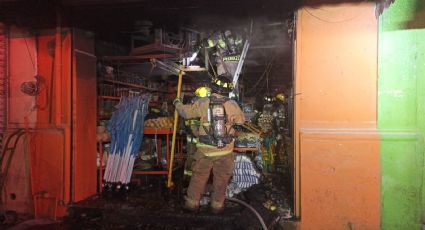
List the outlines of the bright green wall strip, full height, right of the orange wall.
<svg viewBox="0 0 425 230">
<path fill-rule="evenodd" d="M 382 229 L 421 229 L 425 220 L 424 28 L 424 0 L 397 0 L 379 18 Z"/>
</svg>

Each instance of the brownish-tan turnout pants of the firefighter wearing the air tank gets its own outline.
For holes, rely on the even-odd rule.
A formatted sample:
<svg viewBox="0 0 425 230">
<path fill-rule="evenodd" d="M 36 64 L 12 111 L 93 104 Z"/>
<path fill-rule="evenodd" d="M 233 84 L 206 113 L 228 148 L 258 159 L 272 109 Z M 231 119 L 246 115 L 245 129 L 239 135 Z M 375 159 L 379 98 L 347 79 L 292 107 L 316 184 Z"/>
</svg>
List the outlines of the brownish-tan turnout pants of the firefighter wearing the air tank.
<svg viewBox="0 0 425 230">
<path fill-rule="evenodd" d="M 222 209 L 233 167 L 234 157 L 232 153 L 224 156 L 208 157 L 197 152 L 192 168 L 192 178 L 190 179 L 187 191 L 186 206 L 192 209 L 199 207 L 199 200 L 205 191 L 205 186 L 212 170 L 213 191 L 211 195 L 211 208 L 216 210 Z"/>
</svg>

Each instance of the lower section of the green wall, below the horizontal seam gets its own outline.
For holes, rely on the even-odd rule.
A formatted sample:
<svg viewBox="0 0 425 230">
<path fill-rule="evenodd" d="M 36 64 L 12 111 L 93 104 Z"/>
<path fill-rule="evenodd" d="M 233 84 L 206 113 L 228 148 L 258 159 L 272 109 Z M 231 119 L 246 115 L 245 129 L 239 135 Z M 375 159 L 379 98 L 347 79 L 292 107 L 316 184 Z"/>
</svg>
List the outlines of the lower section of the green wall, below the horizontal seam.
<svg viewBox="0 0 425 230">
<path fill-rule="evenodd" d="M 387 135 L 383 134 L 381 144 L 385 154 L 381 160 L 382 229 L 420 229 L 422 156 L 416 151 L 418 141 L 403 140 L 403 134 L 391 134 L 393 138 L 388 139 Z"/>
</svg>

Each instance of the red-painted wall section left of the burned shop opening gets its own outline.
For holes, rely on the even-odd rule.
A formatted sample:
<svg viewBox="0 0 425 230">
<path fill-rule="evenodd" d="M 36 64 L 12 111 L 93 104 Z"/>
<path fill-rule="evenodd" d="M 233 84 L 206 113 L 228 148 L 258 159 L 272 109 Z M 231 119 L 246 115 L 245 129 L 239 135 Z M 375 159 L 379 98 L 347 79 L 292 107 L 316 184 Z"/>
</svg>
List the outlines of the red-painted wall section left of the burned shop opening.
<svg viewBox="0 0 425 230">
<path fill-rule="evenodd" d="M 8 193 L 23 192 L 6 209 L 55 218 L 69 202 L 96 193 L 96 59 L 77 66 L 84 61 L 75 55 L 77 37 L 94 47 L 93 37 L 69 29 L 38 36 L 11 30 L 9 126 L 26 130 L 27 139 L 13 159 L 16 183 L 7 186 Z M 21 84 L 36 74 L 43 79 L 40 93 L 22 93 Z"/>
</svg>

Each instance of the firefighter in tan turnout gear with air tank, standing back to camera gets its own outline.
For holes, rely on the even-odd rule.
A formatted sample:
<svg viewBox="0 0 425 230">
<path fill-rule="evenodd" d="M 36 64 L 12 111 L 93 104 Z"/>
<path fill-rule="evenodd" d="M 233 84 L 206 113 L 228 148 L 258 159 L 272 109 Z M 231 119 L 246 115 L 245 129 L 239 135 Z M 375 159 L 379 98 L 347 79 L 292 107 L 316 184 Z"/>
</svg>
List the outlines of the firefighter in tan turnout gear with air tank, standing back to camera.
<svg viewBox="0 0 425 230">
<path fill-rule="evenodd" d="M 205 186 L 213 173 L 210 208 L 213 213 L 224 209 L 226 188 L 234 167 L 233 125 L 241 125 L 245 117 L 238 104 L 224 94 L 231 91 L 231 83 L 224 78 L 217 79 L 212 88 L 199 88 L 200 98 L 191 104 L 174 100 L 176 110 L 185 119 L 199 118 L 198 141 L 192 168 L 192 177 L 187 191 L 185 209 L 197 211 Z"/>
</svg>

